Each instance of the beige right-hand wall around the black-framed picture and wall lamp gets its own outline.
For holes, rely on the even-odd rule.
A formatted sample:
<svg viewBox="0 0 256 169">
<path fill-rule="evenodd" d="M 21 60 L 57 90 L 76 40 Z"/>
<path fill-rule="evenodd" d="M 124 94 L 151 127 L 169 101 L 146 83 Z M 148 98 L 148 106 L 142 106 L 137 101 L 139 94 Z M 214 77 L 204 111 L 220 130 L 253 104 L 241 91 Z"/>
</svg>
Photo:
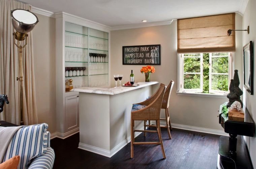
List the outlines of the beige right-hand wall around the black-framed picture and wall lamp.
<svg viewBox="0 0 256 169">
<path fill-rule="evenodd" d="M 250 34 L 247 32 L 243 32 L 243 45 L 247 44 L 249 41 L 253 41 L 253 49 L 254 49 L 254 95 L 250 95 L 245 89 L 244 91 L 244 99 L 243 102 L 246 104 L 246 108 L 251 114 L 254 122 L 256 121 L 256 57 L 255 57 L 255 43 L 256 43 L 256 1 L 249 0 L 247 4 L 247 8 L 245 10 L 243 16 L 243 29 L 247 29 L 247 26 L 250 26 Z M 246 137 L 246 142 L 248 145 L 248 149 L 250 152 L 251 160 L 254 168 L 256 168 L 256 138 L 254 137 Z"/>
</svg>

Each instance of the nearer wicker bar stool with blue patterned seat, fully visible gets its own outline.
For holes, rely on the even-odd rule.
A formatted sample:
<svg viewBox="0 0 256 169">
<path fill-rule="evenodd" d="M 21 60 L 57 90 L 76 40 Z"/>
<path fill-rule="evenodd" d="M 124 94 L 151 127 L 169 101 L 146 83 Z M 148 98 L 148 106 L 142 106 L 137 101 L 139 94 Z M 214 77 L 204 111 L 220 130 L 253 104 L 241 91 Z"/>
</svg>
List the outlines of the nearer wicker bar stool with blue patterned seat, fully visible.
<svg viewBox="0 0 256 169">
<path fill-rule="evenodd" d="M 160 87 L 156 93 L 149 99 L 132 105 L 131 111 L 131 158 L 133 158 L 133 145 L 134 144 L 160 144 L 162 149 L 163 158 L 165 159 L 163 141 L 160 129 L 160 110 L 162 105 L 162 100 L 164 96 L 166 86 L 160 84 Z M 134 130 L 135 120 L 155 120 L 156 129 L 153 130 Z M 134 142 L 134 132 L 155 132 L 158 133 L 159 142 Z"/>
</svg>

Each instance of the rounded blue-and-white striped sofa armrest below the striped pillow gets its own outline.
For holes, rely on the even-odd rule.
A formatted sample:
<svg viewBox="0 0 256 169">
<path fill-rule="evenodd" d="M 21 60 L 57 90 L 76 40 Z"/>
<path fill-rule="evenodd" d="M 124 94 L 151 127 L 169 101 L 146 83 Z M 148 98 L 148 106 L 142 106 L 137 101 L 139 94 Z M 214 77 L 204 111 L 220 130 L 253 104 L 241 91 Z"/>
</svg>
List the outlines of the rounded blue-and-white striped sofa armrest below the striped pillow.
<svg viewBox="0 0 256 169">
<path fill-rule="evenodd" d="M 54 150 L 51 147 L 47 147 L 46 153 L 35 158 L 28 169 L 52 169 L 55 159 Z"/>
</svg>

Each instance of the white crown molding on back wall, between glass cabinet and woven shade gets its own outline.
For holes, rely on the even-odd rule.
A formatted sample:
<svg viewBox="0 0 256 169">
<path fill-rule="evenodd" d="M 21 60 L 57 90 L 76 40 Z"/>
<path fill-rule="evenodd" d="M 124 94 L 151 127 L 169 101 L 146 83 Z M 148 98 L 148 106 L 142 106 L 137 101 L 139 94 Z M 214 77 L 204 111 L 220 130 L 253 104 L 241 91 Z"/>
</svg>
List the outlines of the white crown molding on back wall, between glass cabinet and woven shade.
<svg viewBox="0 0 256 169">
<path fill-rule="evenodd" d="M 135 29 L 135 28 L 145 28 L 145 27 L 154 27 L 154 26 L 161 26 L 161 25 L 170 25 L 173 20 L 176 20 L 176 19 L 159 21 L 159 22 L 149 22 L 149 23 L 141 23 L 141 24 L 133 24 L 133 25 L 116 26 L 116 27 L 111 27 L 111 31 L 124 30 L 124 29 Z"/>
</svg>

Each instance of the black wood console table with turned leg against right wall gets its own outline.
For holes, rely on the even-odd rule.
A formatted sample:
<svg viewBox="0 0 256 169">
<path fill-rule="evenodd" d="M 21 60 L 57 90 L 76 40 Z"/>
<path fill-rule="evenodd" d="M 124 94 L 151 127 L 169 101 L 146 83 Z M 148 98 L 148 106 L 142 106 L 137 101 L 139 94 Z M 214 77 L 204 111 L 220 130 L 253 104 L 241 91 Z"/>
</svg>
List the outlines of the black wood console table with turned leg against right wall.
<svg viewBox="0 0 256 169">
<path fill-rule="evenodd" d="M 250 156 L 242 138 L 242 135 L 254 136 L 255 124 L 250 114 L 244 109 L 245 120 L 241 122 L 228 120 L 228 117 L 221 112 L 222 105 L 220 106 L 219 123 L 224 128 L 224 131 L 229 133 L 229 137 L 220 137 L 217 168 L 251 169 Z"/>
</svg>

